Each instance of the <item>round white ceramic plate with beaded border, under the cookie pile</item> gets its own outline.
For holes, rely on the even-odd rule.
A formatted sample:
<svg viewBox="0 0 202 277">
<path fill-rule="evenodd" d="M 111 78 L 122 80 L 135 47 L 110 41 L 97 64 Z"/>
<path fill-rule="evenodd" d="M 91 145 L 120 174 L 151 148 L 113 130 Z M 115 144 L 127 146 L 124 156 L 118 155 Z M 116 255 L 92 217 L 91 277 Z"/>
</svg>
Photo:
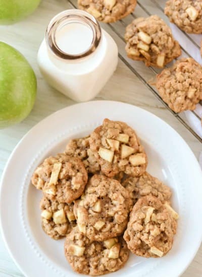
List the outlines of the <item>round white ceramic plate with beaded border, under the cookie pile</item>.
<svg viewBox="0 0 202 277">
<path fill-rule="evenodd" d="M 67 107 L 33 127 L 17 145 L 5 168 L 1 187 L 1 225 L 7 247 L 23 273 L 36 276 L 78 276 L 64 256 L 64 240 L 54 241 L 40 226 L 41 191 L 30 184 L 36 166 L 47 156 L 63 151 L 72 137 L 87 135 L 103 119 L 122 120 L 136 129 L 148 155 L 148 172 L 173 191 L 179 213 L 172 250 L 163 258 L 130 255 L 113 276 L 175 277 L 193 259 L 202 236 L 202 176 L 183 139 L 157 116 L 132 105 L 92 101 Z"/>
</svg>

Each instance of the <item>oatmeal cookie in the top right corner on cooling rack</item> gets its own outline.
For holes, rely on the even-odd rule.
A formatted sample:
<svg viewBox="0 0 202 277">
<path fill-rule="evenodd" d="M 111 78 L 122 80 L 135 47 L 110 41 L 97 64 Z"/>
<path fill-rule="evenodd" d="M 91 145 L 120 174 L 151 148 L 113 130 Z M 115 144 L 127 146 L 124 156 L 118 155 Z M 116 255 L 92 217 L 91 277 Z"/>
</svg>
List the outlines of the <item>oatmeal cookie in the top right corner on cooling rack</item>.
<svg viewBox="0 0 202 277">
<path fill-rule="evenodd" d="M 186 33 L 202 33 L 201 0 L 169 0 L 166 2 L 164 12 L 170 22 L 175 23 Z"/>
</svg>

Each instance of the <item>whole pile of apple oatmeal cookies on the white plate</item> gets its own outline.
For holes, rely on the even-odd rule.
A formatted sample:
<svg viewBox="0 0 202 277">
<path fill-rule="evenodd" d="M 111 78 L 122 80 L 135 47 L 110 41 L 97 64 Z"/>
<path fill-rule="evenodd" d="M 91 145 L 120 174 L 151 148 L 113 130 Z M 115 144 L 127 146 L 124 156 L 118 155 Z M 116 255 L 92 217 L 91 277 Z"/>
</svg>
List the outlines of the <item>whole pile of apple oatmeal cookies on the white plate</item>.
<svg viewBox="0 0 202 277">
<path fill-rule="evenodd" d="M 171 190 L 146 166 L 135 131 L 105 119 L 35 170 L 32 184 L 43 192 L 42 228 L 53 239 L 66 237 L 73 270 L 101 275 L 123 267 L 129 250 L 148 258 L 172 248 L 178 215 Z"/>
</svg>

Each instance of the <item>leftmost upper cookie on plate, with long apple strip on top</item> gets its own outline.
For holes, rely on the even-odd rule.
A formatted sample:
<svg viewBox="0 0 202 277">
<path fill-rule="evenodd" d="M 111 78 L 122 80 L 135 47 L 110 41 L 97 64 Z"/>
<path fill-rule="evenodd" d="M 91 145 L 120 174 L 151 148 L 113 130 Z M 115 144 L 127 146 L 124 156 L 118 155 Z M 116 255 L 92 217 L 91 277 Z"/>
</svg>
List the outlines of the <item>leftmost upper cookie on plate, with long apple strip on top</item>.
<svg viewBox="0 0 202 277">
<path fill-rule="evenodd" d="M 81 196 L 87 183 L 87 172 L 81 160 L 58 154 L 37 167 L 32 184 L 42 189 L 45 196 L 60 203 L 71 203 Z"/>
</svg>

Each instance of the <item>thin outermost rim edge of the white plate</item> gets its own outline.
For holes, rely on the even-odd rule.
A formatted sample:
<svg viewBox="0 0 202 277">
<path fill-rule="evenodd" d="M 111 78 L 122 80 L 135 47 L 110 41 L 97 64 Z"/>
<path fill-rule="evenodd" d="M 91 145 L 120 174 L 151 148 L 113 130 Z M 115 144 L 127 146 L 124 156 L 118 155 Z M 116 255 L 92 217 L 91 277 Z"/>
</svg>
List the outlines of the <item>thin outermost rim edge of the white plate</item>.
<svg viewBox="0 0 202 277">
<path fill-rule="evenodd" d="M 25 139 L 30 133 L 34 132 L 35 129 L 37 129 L 38 126 L 39 126 L 42 122 L 45 122 L 46 120 L 49 120 L 53 115 L 56 115 L 56 114 L 58 114 L 58 113 L 60 113 L 60 112 L 63 112 L 63 111 L 65 111 L 65 110 L 69 109 L 70 107 L 77 106 L 77 105 L 83 105 L 83 104 L 84 104 L 84 105 L 88 105 L 88 103 L 92 103 L 92 102 L 94 102 L 95 104 L 96 104 L 96 103 L 100 103 L 100 102 L 104 102 L 104 103 L 108 103 L 108 104 L 114 103 L 114 104 L 123 104 L 123 105 L 125 105 L 125 106 L 130 106 L 130 107 L 132 107 L 132 108 L 135 108 L 135 109 L 137 109 L 137 110 L 139 109 L 139 110 L 141 110 L 141 111 L 147 113 L 147 115 L 149 115 L 149 116 L 155 118 L 156 120 L 159 120 L 161 123 L 167 125 L 167 126 L 170 128 L 170 130 L 172 130 L 172 131 L 175 133 L 175 135 L 177 135 L 178 138 L 180 138 L 181 142 L 183 143 L 183 147 L 186 148 L 186 150 L 187 150 L 187 151 L 189 152 L 189 154 L 192 156 L 193 160 L 195 160 L 195 166 L 197 165 L 196 168 L 195 168 L 195 170 L 198 170 L 198 173 L 200 172 L 200 177 L 201 177 L 201 179 L 202 179 L 202 173 L 201 173 L 199 164 L 198 164 L 197 159 L 196 159 L 195 155 L 193 154 L 192 150 L 190 149 L 190 147 L 188 146 L 188 144 L 185 142 L 185 140 L 181 137 L 181 135 L 180 135 L 173 127 L 171 127 L 167 122 L 165 122 L 163 119 L 161 119 L 160 117 L 156 116 L 155 114 L 153 114 L 153 113 L 151 113 L 151 112 L 149 112 L 149 111 L 147 111 L 147 110 L 145 110 L 145 109 L 142 109 L 142 108 L 140 108 L 140 107 L 138 107 L 138 106 L 131 105 L 131 104 L 128 104 L 128 103 L 124 103 L 124 102 L 120 102 L 120 101 L 96 100 L 96 101 L 88 101 L 88 102 L 84 102 L 84 103 L 76 103 L 76 104 L 74 104 L 74 105 L 70 105 L 70 106 L 67 106 L 67 107 L 65 107 L 65 108 L 63 108 L 63 109 L 60 109 L 60 110 L 58 110 L 58 111 L 52 113 L 51 115 L 48 115 L 47 117 L 45 117 L 45 118 L 43 118 L 41 121 L 39 121 L 37 124 L 35 124 L 35 125 L 34 125 L 34 126 L 33 126 L 33 127 L 21 138 L 21 140 L 18 142 L 18 144 L 16 145 L 16 147 L 15 147 L 14 150 L 12 151 L 12 153 L 11 153 L 11 155 L 10 155 L 10 157 L 9 157 L 9 159 L 8 159 L 8 161 L 7 161 L 7 163 L 6 163 L 6 165 L 5 165 L 5 168 L 4 168 L 4 171 L 3 171 L 3 174 L 2 174 L 1 180 L 0 180 L 0 200 L 1 200 L 1 198 L 2 198 L 3 183 L 4 183 L 4 179 L 5 179 L 5 177 L 6 177 L 6 174 L 7 174 L 7 170 L 8 170 L 9 164 L 10 164 L 10 162 L 12 161 L 13 157 L 15 156 L 15 152 L 16 152 L 16 150 L 18 149 L 18 147 L 19 147 L 21 144 L 23 144 L 24 139 Z M 0 201 L 0 207 L 1 207 L 1 201 Z M 201 207 L 202 207 L 202 203 L 201 203 Z M 2 211 L 2 209 L 1 209 L 1 211 Z M 9 252 L 9 254 L 11 255 L 12 259 L 14 260 L 15 264 L 17 265 L 17 267 L 21 270 L 21 272 L 23 272 L 24 275 L 27 276 L 27 273 L 24 271 L 22 265 L 19 264 L 19 262 L 17 261 L 16 257 L 13 255 L 12 250 L 10 249 L 9 242 L 7 241 L 6 232 L 5 232 L 5 230 L 4 230 L 3 222 L 2 222 L 2 221 L 3 221 L 2 212 L 0 212 L 0 230 L 1 230 L 1 233 L 2 233 L 3 240 L 4 240 L 4 242 L 5 242 L 5 245 L 6 245 L 6 247 L 7 247 L 7 250 L 8 250 L 8 252 Z M 201 226 L 201 229 L 202 229 L 202 226 Z M 200 243 L 201 243 L 201 241 L 202 241 L 202 232 L 201 232 L 201 236 L 200 236 Z M 199 246 L 200 246 L 200 243 L 198 243 L 198 246 L 195 247 L 195 251 L 194 251 L 194 253 L 192 254 L 192 257 L 191 257 L 189 263 L 187 263 L 186 266 L 183 267 L 183 269 L 181 270 L 181 273 L 180 273 L 180 274 L 182 274 L 182 273 L 186 270 L 186 268 L 189 266 L 189 264 L 190 264 L 191 261 L 193 260 L 194 256 L 196 255 L 196 253 L 197 253 L 197 251 L 198 251 L 198 248 L 199 248 Z"/>
</svg>

